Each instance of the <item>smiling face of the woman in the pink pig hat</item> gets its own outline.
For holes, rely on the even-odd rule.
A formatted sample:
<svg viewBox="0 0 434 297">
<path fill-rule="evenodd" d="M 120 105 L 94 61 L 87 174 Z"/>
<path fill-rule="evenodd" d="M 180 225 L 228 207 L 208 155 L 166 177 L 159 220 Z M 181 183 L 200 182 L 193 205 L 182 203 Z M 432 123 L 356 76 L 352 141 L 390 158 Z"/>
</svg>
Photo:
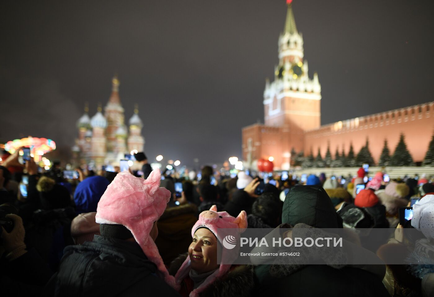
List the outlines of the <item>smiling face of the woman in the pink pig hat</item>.
<svg viewBox="0 0 434 297">
<path fill-rule="evenodd" d="M 200 274 L 217 269 L 217 244 L 217 238 L 209 229 L 197 229 L 188 247 L 191 269 Z"/>
</svg>

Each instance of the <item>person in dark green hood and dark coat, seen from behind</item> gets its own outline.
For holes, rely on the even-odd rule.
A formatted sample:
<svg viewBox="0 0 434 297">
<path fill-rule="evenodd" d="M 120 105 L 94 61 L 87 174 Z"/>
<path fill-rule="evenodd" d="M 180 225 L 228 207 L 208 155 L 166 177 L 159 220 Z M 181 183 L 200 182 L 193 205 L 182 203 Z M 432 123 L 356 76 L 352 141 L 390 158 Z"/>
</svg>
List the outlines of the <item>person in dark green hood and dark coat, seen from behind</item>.
<svg viewBox="0 0 434 297">
<path fill-rule="evenodd" d="M 297 185 L 289 190 L 283 205 L 282 223 L 266 237 L 286 238 L 286 228 L 293 228 L 293 234 L 321 232 L 315 228 L 342 228 L 342 219 L 336 214 L 329 196 L 316 185 Z M 258 264 L 255 267 L 259 280 L 257 296 L 388 296 L 381 283 L 385 274 L 382 261 L 352 242 L 345 241 L 343 246 L 345 250 L 339 251 L 342 254 L 336 254 L 337 250 L 330 253 L 312 247 L 302 250 L 300 257 L 256 256 L 265 250 L 255 247 L 250 260 Z M 300 261 L 306 256 L 306 262 Z M 341 257 L 342 260 L 335 259 Z M 344 257 L 358 257 L 376 264 L 344 265 L 347 262 Z M 311 262 L 313 264 L 308 264 Z M 348 259 L 348 262 L 352 261 Z"/>
</svg>

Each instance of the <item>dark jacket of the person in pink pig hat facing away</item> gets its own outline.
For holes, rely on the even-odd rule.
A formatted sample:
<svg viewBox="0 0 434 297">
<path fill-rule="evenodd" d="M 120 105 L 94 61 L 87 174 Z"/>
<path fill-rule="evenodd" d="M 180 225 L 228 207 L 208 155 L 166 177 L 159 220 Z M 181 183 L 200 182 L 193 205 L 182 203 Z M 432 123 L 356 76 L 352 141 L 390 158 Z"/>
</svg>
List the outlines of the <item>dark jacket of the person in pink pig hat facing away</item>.
<svg viewBox="0 0 434 297">
<path fill-rule="evenodd" d="M 47 285 L 51 296 L 179 296 L 160 279 L 136 242 L 95 235 L 65 248 L 59 272 Z"/>
</svg>

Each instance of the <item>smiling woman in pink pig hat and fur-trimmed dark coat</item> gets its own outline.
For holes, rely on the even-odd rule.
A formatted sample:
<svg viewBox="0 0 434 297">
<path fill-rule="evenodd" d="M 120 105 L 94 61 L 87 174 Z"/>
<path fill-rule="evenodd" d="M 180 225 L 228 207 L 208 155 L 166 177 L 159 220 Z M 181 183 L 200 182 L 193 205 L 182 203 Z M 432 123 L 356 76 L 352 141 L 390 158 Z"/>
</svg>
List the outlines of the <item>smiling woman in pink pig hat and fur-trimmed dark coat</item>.
<svg viewBox="0 0 434 297">
<path fill-rule="evenodd" d="M 250 296 L 254 288 L 252 265 L 233 265 L 239 247 L 227 248 L 247 228 L 246 211 L 237 218 L 226 211 L 217 211 L 213 205 L 203 211 L 191 229 L 192 242 L 188 253 L 178 257 L 171 265 L 175 281 L 181 286 L 181 296 Z M 230 230 L 228 230 L 230 229 Z M 221 262 L 217 262 L 220 246 Z M 223 247 L 222 247 L 223 246 Z"/>
</svg>

